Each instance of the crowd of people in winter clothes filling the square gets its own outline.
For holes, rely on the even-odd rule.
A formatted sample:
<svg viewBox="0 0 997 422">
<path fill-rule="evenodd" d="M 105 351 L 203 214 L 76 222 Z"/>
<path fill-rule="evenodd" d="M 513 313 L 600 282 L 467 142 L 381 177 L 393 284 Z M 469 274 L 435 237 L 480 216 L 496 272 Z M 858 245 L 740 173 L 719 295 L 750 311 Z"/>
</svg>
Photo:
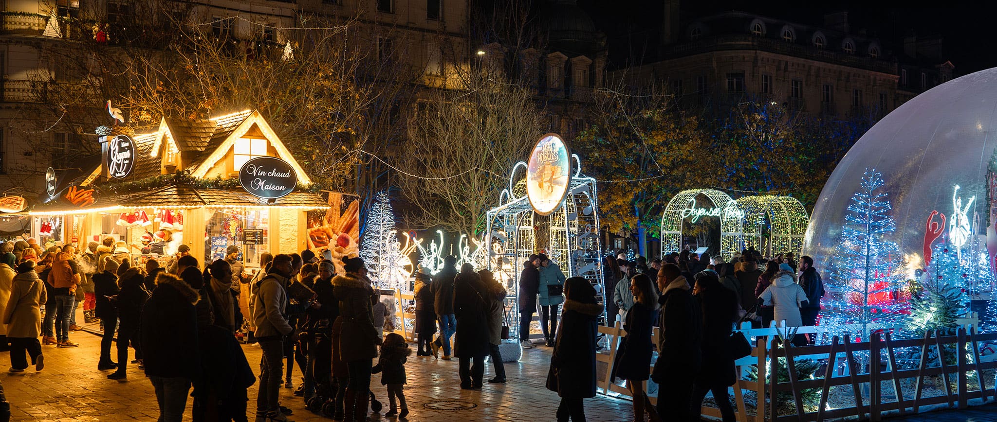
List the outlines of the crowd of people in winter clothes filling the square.
<svg viewBox="0 0 997 422">
<path fill-rule="evenodd" d="M 188 396 L 195 421 L 248 420 L 247 389 L 257 381 L 255 421 L 288 421 L 292 412 L 280 404 L 279 391 L 292 387 L 295 363 L 304 375 L 295 394 L 309 409 L 334 420 L 367 420 L 370 410 L 380 410 L 370 390 L 372 373 L 380 373 L 390 406 L 385 416 L 408 416 L 405 364 L 412 350 L 391 332 L 394 310 L 381 302 L 362 259 L 344 259 L 344 272 L 336 274 L 332 261 L 311 251 L 264 253 L 261 270 L 250 275 L 235 247 L 225 259 L 204 265 L 181 248 L 164 268 L 156 260 L 140 266 L 121 243 L 109 237 L 80 253 L 72 245 L 41 251 L 30 241 L 0 244 L 0 347 L 10 350 L 10 372 L 29 365 L 43 370 L 43 344 L 77 346 L 70 332 L 79 328 L 73 317 L 83 303 L 87 322 L 99 320 L 103 329 L 98 369 L 126 381 L 128 364 L 137 364 L 155 388 L 161 421 L 181 420 Z M 565 278 L 543 254 L 523 263 L 518 341 L 535 347 L 530 324 L 538 313 L 538 341 L 552 347 L 546 386 L 561 397 L 558 421 L 584 420 L 583 399 L 595 395 L 597 324 L 604 315 L 609 324 L 618 317 L 627 332 L 611 376 L 625 380 L 635 421 L 696 419 L 708 392 L 729 421 L 734 324 L 814 324 L 824 296 L 821 276 L 806 256 L 798 267 L 792 255 L 763 260 L 745 250 L 725 263 L 684 251 L 650 263 L 607 258 L 605 268 L 604 314 L 586 279 Z M 245 316 L 238 305 L 242 289 L 250 292 Z M 506 382 L 499 347 L 508 336 L 505 296 L 493 273 L 476 272 L 471 264 L 458 269 L 454 257 L 446 257 L 435 275 L 420 267 L 415 355 L 456 357 L 464 389 L 483 388 L 491 356 L 488 381 Z M 237 341 L 244 324 L 249 342 L 261 351 L 258 375 Z M 661 332 L 657 343 L 654 326 Z M 647 379 L 658 383 L 657 406 L 643 389 Z"/>
</svg>

